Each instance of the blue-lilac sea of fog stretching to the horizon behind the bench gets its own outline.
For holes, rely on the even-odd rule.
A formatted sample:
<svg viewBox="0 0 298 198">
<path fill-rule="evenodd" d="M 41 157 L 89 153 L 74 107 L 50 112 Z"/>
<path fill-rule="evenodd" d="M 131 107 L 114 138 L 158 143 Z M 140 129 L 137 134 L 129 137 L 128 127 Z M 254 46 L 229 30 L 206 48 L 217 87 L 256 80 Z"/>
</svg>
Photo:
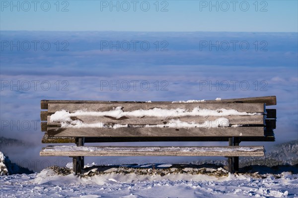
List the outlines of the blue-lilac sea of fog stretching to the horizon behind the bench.
<svg viewBox="0 0 298 198">
<path fill-rule="evenodd" d="M 276 95 L 276 142 L 243 145 L 269 149 L 298 138 L 298 33 L 1 31 L 0 42 L 0 136 L 26 142 L 4 143 L 1 150 L 35 171 L 71 161 L 39 156 L 44 146 L 42 99 L 177 101 Z M 86 162 L 196 159 L 98 157 Z"/>
</svg>

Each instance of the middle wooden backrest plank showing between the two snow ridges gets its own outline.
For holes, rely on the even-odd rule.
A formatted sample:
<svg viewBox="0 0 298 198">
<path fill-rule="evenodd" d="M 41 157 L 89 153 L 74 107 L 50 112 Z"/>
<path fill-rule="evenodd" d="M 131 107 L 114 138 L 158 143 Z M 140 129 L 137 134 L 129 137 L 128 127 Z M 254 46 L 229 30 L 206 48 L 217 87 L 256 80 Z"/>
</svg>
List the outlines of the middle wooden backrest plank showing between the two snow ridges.
<svg viewBox="0 0 298 198">
<path fill-rule="evenodd" d="M 253 116 L 224 116 L 229 120 L 231 125 L 264 125 L 264 115 L 253 115 Z M 48 125 L 61 125 L 58 122 L 51 122 L 51 116 L 48 116 Z M 119 124 L 119 125 L 162 125 L 167 124 L 172 119 L 179 119 L 182 122 L 195 122 L 203 124 L 205 121 L 215 121 L 219 119 L 218 116 L 184 116 L 184 117 L 144 117 L 134 118 L 126 117 L 124 120 L 115 119 L 112 117 L 104 116 L 76 116 L 71 117 L 72 120 L 80 120 L 84 124 L 104 123 L 104 124 Z"/>
</svg>

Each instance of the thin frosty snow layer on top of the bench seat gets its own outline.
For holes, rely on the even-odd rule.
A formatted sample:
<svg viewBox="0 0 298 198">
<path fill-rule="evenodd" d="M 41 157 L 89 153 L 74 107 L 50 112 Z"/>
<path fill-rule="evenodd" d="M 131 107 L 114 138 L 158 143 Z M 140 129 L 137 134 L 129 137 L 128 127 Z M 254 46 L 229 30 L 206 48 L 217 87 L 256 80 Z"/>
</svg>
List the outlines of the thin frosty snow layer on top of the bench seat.
<svg viewBox="0 0 298 198">
<path fill-rule="evenodd" d="M 222 148 L 222 147 L 94 147 L 94 146 L 52 146 L 46 147 L 43 151 L 55 152 L 55 151 L 135 151 L 135 152 L 150 152 L 150 151 L 184 151 L 184 152 L 202 152 L 202 151 L 217 151 L 217 152 L 232 152 L 232 151 L 244 151 L 254 152 L 263 147 L 238 147 L 238 148 Z"/>
</svg>

